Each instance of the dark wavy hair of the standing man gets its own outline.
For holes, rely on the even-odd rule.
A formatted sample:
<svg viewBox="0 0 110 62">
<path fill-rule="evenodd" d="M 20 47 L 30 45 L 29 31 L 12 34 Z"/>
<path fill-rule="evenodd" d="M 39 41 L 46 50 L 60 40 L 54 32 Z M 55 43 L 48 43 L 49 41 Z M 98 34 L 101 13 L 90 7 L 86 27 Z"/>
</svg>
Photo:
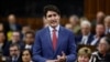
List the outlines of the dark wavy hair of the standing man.
<svg viewBox="0 0 110 62">
<path fill-rule="evenodd" d="M 55 6 L 53 6 L 53 4 L 48 4 L 48 6 L 45 6 L 45 7 L 44 7 L 44 17 L 46 17 L 47 11 L 54 11 L 54 12 L 56 12 L 57 14 L 61 16 L 61 11 L 58 10 L 58 8 L 55 7 Z"/>
</svg>

